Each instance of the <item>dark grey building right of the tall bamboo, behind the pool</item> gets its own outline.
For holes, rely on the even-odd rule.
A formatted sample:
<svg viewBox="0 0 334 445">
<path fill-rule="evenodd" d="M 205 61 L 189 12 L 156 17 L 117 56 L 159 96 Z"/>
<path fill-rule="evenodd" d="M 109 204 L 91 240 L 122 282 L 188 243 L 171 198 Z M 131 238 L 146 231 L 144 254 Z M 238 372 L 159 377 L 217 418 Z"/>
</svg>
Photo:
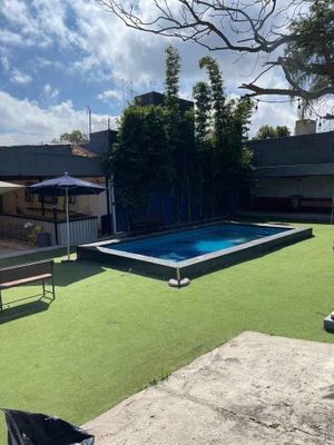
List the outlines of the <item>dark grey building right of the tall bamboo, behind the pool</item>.
<svg viewBox="0 0 334 445">
<path fill-rule="evenodd" d="M 249 147 L 255 167 L 252 208 L 331 211 L 334 131 L 256 140 Z"/>
</svg>

